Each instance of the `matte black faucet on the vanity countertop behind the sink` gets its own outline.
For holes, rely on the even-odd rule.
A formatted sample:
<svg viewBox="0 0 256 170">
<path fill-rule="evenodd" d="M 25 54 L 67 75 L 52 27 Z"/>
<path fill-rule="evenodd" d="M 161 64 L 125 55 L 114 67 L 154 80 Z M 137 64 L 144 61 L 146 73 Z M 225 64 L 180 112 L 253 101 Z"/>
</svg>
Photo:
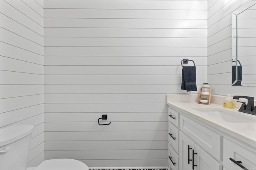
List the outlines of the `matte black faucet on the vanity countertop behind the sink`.
<svg viewBox="0 0 256 170">
<path fill-rule="evenodd" d="M 248 102 L 247 102 L 247 105 L 245 104 L 245 102 L 241 102 L 243 104 L 238 111 L 241 111 L 244 113 L 252 112 L 250 114 L 253 114 L 253 112 L 256 113 L 256 107 L 254 107 L 254 97 L 249 97 L 249 96 L 234 96 L 233 97 L 233 99 L 237 99 L 237 100 L 239 100 L 240 98 L 245 98 L 248 100 Z"/>
</svg>

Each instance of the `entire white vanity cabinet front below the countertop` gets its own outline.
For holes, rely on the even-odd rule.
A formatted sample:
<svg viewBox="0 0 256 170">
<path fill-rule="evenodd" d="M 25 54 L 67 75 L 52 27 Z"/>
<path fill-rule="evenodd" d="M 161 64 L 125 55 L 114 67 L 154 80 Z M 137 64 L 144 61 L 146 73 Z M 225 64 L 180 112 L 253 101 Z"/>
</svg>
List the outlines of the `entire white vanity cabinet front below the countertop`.
<svg viewBox="0 0 256 170">
<path fill-rule="evenodd" d="M 168 106 L 169 170 L 256 170 L 256 148 Z"/>
</svg>

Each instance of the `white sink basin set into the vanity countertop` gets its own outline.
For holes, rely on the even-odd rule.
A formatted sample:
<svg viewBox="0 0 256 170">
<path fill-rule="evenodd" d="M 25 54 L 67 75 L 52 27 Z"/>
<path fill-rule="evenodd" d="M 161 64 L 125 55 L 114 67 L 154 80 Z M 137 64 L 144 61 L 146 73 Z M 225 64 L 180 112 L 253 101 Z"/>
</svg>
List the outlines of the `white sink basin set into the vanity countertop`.
<svg viewBox="0 0 256 170">
<path fill-rule="evenodd" d="M 256 123 L 256 120 L 252 120 L 246 117 L 235 115 L 238 113 L 230 113 L 222 109 L 196 109 L 197 111 L 203 112 L 205 114 L 211 115 L 214 118 L 226 121 L 229 123 Z"/>
</svg>

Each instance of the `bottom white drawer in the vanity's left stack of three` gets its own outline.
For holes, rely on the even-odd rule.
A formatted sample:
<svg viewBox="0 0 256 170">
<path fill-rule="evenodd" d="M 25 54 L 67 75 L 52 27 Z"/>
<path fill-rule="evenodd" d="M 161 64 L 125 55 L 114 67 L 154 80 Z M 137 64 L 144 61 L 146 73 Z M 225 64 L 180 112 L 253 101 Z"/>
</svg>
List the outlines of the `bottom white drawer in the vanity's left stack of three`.
<svg viewBox="0 0 256 170">
<path fill-rule="evenodd" d="M 171 170 L 179 170 L 179 155 L 170 144 L 168 144 L 168 168 Z"/>
</svg>

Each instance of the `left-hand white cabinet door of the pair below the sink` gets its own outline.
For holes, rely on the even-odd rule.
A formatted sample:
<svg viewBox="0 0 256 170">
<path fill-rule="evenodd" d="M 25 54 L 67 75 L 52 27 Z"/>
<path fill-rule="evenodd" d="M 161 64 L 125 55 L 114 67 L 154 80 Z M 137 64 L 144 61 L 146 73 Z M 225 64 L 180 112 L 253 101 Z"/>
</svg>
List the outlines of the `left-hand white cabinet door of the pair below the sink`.
<svg viewBox="0 0 256 170">
<path fill-rule="evenodd" d="M 192 170 L 194 142 L 180 131 L 180 170 Z"/>
</svg>

